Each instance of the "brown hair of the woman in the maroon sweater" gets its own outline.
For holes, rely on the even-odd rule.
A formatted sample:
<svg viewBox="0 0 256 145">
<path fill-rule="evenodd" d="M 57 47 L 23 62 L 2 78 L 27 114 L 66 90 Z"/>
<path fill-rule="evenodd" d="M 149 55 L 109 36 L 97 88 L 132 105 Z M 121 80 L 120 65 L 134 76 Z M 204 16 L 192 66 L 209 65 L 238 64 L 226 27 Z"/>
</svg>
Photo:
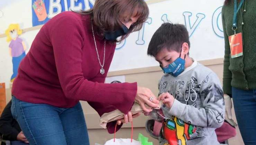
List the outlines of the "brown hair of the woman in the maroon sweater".
<svg viewBox="0 0 256 145">
<path fill-rule="evenodd" d="M 131 32 L 142 28 L 148 18 L 149 10 L 144 0 L 95 0 L 92 9 L 79 13 L 91 14 L 93 23 L 102 36 L 105 32 L 121 28 L 122 21 L 139 16 L 137 22 L 131 25 L 128 33 L 121 37 L 119 40 L 121 41 Z"/>
</svg>

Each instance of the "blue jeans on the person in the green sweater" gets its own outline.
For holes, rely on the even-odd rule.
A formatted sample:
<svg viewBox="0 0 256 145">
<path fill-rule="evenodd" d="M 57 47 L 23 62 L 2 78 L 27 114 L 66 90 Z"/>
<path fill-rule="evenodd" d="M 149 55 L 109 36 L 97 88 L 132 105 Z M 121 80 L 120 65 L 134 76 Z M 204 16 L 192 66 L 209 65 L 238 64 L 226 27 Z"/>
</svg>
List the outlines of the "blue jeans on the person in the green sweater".
<svg viewBox="0 0 256 145">
<path fill-rule="evenodd" d="M 245 145 L 256 145 L 256 89 L 232 87 L 237 123 Z"/>
</svg>

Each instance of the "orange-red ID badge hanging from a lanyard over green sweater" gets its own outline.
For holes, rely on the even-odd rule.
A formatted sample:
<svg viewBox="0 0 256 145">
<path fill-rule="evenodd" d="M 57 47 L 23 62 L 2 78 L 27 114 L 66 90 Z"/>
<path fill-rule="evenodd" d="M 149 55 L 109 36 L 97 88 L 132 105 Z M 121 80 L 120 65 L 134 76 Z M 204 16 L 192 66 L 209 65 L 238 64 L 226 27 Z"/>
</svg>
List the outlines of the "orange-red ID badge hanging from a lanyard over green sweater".
<svg viewBox="0 0 256 145">
<path fill-rule="evenodd" d="M 231 58 L 236 58 L 243 55 L 243 38 L 242 33 L 237 33 L 228 37 Z"/>
</svg>

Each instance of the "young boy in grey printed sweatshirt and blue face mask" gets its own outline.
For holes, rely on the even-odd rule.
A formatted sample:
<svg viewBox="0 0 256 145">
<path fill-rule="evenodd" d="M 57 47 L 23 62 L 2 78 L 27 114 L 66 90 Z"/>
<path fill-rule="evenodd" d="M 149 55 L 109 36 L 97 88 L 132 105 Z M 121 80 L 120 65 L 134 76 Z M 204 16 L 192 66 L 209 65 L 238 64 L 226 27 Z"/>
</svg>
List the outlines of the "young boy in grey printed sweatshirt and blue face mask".
<svg viewBox="0 0 256 145">
<path fill-rule="evenodd" d="M 164 75 L 159 100 L 165 119 L 160 145 L 218 145 L 215 129 L 224 121 L 223 91 L 217 75 L 189 57 L 184 25 L 164 23 L 150 40 L 147 54 Z"/>
</svg>

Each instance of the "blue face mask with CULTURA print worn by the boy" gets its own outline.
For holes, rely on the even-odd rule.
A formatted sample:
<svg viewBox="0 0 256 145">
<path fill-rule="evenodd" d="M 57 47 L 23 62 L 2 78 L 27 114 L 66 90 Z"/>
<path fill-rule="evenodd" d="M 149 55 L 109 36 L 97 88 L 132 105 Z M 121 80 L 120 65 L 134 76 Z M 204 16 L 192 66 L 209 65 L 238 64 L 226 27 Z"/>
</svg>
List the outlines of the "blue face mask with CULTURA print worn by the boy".
<svg viewBox="0 0 256 145">
<path fill-rule="evenodd" d="M 171 64 L 169 64 L 168 67 L 162 67 L 162 66 L 160 67 L 163 69 L 165 74 L 171 74 L 172 76 L 177 77 L 185 69 L 185 58 L 186 58 L 186 55 L 184 59 L 182 59 L 180 54 L 180 56 Z"/>
</svg>

